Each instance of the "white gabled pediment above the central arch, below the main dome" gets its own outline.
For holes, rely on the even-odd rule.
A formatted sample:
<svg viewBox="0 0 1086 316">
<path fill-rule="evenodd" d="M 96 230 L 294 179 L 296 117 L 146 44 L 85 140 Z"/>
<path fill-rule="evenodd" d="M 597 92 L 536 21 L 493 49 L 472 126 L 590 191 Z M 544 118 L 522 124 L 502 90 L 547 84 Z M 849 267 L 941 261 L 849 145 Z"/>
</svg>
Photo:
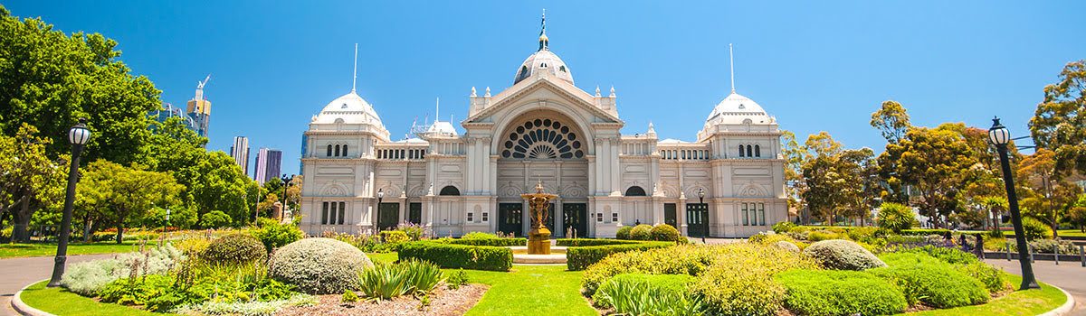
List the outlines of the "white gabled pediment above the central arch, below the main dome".
<svg viewBox="0 0 1086 316">
<path fill-rule="evenodd" d="M 494 114 L 526 104 L 526 101 L 552 101 L 591 113 L 593 122 L 622 123 L 618 116 L 596 107 L 595 97 L 561 79 L 532 77 L 494 95 L 487 108 L 465 120 L 465 123 L 492 122 Z"/>
</svg>

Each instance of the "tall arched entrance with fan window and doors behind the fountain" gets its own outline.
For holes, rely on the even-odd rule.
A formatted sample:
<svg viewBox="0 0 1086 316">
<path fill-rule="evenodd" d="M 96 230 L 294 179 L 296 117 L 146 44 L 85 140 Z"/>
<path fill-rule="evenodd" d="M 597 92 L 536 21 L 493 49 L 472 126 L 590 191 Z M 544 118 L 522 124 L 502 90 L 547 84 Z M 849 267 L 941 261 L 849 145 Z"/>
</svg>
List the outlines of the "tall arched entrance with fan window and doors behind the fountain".
<svg viewBox="0 0 1086 316">
<path fill-rule="evenodd" d="M 552 236 L 589 236 L 590 135 L 565 115 L 531 110 L 510 120 L 495 137 L 497 231 L 525 236 L 531 222 L 520 195 L 542 183 L 545 192 L 558 195 L 546 223 Z"/>
</svg>

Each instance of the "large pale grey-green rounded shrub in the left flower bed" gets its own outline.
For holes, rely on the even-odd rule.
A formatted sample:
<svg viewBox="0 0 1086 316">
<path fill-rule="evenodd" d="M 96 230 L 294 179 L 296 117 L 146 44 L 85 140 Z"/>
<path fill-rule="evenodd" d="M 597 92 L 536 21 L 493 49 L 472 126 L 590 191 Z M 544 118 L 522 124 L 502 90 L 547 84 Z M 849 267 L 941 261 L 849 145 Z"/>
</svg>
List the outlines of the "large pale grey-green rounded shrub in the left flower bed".
<svg viewBox="0 0 1086 316">
<path fill-rule="evenodd" d="M 354 287 L 358 272 L 370 268 L 358 248 L 331 238 L 307 238 L 272 255 L 268 276 L 312 294 L 342 293 Z"/>
</svg>

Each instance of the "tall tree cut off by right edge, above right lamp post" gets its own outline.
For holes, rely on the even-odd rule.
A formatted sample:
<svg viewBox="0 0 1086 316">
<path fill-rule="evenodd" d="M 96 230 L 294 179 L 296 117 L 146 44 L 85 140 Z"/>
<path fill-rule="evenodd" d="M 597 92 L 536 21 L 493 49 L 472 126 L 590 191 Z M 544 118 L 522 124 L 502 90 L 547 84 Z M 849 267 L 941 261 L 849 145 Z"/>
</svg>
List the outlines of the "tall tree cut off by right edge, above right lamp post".
<svg viewBox="0 0 1086 316">
<path fill-rule="evenodd" d="M 1030 119 L 1038 148 L 1052 150 L 1056 170 L 1086 174 L 1086 60 L 1068 63 L 1060 82 L 1045 85 L 1045 101 Z"/>
</svg>

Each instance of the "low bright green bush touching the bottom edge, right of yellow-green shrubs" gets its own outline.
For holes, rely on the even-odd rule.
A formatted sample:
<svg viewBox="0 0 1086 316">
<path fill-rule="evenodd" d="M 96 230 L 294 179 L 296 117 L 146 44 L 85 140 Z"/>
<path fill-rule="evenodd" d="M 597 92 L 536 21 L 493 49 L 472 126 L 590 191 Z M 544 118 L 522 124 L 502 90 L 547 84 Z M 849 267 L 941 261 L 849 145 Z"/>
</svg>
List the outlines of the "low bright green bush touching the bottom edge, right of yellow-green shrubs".
<svg viewBox="0 0 1086 316">
<path fill-rule="evenodd" d="M 803 315 L 892 315 L 909 307 L 897 287 L 862 272 L 793 269 L 774 279 L 787 289 L 784 304 Z"/>
</svg>

